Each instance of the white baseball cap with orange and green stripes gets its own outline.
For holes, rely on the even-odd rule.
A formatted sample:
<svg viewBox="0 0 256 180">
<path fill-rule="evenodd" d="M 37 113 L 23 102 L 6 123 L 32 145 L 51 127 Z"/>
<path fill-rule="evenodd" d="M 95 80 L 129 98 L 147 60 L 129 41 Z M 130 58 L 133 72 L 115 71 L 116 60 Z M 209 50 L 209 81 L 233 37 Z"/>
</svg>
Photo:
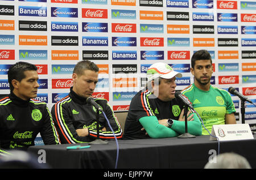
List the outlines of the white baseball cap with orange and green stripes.
<svg viewBox="0 0 256 180">
<path fill-rule="evenodd" d="M 155 78 L 171 79 L 176 76 L 181 78 L 182 74 L 180 72 L 174 71 L 171 66 L 163 62 L 157 62 L 152 64 L 147 69 L 147 80 L 153 80 Z"/>
</svg>

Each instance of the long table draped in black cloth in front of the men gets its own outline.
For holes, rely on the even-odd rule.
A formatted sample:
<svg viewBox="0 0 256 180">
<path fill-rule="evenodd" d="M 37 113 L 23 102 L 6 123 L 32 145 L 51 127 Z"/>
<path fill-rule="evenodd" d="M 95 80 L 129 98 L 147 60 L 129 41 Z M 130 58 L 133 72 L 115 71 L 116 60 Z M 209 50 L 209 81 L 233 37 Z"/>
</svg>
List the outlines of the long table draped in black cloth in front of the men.
<svg viewBox="0 0 256 180">
<path fill-rule="evenodd" d="M 250 140 L 220 142 L 219 153 L 238 153 L 247 158 L 251 168 L 256 168 L 255 137 Z M 209 138 L 209 135 L 205 135 L 196 138 L 118 140 L 117 168 L 204 168 L 209 158 L 218 154 L 218 142 L 210 141 Z M 86 149 L 67 149 L 71 145 L 88 144 L 36 145 L 29 147 L 28 152 L 40 156 L 39 152 L 43 149 L 49 168 L 115 168 L 115 140 L 108 140 L 108 144 L 91 144 Z"/>
</svg>

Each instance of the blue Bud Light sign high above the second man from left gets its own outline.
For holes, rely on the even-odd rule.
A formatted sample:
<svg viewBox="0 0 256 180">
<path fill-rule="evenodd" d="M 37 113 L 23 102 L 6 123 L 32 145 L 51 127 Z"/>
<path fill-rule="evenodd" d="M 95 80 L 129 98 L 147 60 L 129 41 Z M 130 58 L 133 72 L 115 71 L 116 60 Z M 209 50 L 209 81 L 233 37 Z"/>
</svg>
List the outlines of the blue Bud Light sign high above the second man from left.
<svg viewBox="0 0 256 180">
<path fill-rule="evenodd" d="M 108 32 L 108 23 L 82 23 L 82 32 Z"/>
</svg>

